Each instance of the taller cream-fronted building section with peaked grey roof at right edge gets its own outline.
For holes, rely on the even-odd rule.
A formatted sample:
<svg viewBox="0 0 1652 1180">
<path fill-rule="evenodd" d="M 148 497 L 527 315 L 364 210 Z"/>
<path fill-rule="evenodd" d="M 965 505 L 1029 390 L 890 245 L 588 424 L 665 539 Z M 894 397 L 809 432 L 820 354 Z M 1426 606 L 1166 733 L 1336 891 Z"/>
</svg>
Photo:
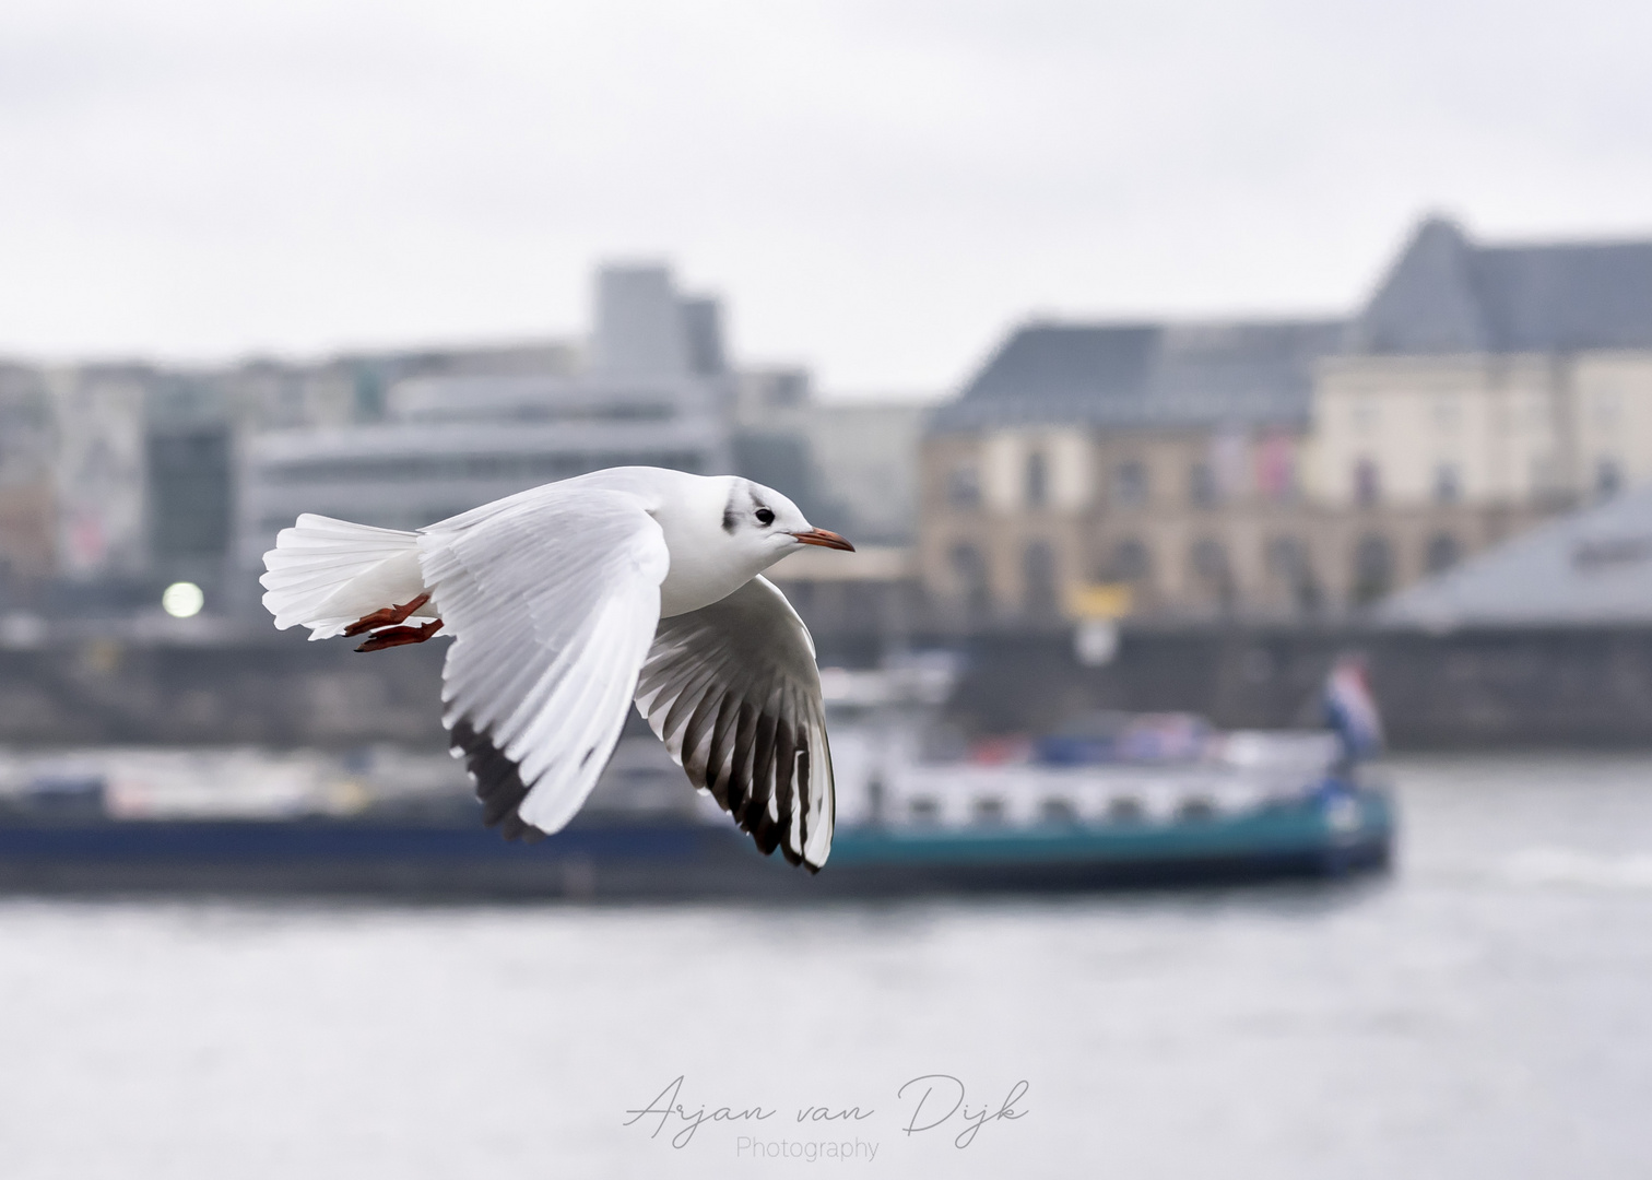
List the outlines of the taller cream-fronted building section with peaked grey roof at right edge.
<svg viewBox="0 0 1652 1180">
<path fill-rule="evenodd" d="M 1363 598 L 1652 481 L 1652 241 L 1426 221 L 1320 365 L 1313 440 Z"/>
</svg>

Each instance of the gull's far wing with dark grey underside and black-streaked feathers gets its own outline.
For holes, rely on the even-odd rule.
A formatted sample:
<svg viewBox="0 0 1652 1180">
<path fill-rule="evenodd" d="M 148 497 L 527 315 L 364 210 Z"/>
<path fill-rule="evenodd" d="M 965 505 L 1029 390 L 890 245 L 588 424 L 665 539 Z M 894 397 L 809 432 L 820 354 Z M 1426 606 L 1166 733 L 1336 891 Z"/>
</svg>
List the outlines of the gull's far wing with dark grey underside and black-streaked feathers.
<svg viewBox="0 0 1652 1180">
<path fill-rule="evenodd" d="M 826 863 L 834 803 L 814 641 L 768 578 L 661 620 L 636 707 L 765 854 Z"/>
</svg>

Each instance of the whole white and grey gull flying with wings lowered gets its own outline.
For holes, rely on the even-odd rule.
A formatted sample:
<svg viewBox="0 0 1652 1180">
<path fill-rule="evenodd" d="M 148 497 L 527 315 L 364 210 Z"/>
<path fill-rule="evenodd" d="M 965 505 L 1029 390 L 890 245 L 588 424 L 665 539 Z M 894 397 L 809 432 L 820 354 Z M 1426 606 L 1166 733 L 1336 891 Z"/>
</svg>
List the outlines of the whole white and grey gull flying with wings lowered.
<svg viewBox="0 0 1652 1180">
<path fill-rule="evenodd" d="M 854 550 L 748 479 L 610 468 L 418 532 L 306 514 L 259 580 L 276 626 L 312 640 L 453 636 L 443 726 L 507 840 L 573 818 L 634 702 L 765 854 L 819 871 L 833 775 L 814 643 L 762 577 L 805 545 Z"/>
</svg>

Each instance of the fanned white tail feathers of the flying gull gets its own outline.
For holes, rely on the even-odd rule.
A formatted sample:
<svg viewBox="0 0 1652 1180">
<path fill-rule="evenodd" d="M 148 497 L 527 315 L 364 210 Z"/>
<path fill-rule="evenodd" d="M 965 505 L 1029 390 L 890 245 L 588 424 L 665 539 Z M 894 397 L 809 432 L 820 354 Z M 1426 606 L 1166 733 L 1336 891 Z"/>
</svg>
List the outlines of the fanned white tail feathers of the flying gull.
<svg viewBox="0 0 1652 1180">
<path fill-rule="evenodd" d="M 311 628 L 312 640 L 339 635 L 362 615 L 416 598 L 425 590 L 418 534 L 375 529 L 306 512 L 276 535 L 264 554 L 264 607 L 286 630 Z M 415 611 L 433 618 L 426 608 Z"/>
</svg>

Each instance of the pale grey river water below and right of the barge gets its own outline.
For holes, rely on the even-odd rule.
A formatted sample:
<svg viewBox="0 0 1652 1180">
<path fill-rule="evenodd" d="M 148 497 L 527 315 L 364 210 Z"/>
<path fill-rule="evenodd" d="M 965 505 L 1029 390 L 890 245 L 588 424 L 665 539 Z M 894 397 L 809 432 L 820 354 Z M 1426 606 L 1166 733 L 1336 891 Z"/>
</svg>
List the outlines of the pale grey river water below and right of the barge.
<svg viewBox="0 0 1652 1180">
<path fill-rule="evenodd" d="M 1652 759 L 1389 777 L 1351 886 L 0 901 L 0 1175 L 1652 1173 Z"/>
</svg>

